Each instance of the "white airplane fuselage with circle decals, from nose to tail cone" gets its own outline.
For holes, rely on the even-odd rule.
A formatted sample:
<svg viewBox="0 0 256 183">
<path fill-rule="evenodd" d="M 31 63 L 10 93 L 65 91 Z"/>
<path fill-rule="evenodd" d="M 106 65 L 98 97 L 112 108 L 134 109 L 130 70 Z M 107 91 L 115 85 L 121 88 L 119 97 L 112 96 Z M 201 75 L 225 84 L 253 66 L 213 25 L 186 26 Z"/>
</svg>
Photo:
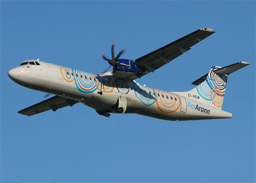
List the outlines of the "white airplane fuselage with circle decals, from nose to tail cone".
<svg viewBox="0 0 256 183">
<path fill-rule="evenodd" d="M 142 86 L 135 80 L 113 76 L 112 72 L 91 74 L 38 62 L 40 65 L 22 65 L 8 74 L 24 87 L 76 99 L 99 113 L 138 113 L 179 121 L 232 117 L 231 113 L 200 103 L 197 97 Z"/>
</svg>

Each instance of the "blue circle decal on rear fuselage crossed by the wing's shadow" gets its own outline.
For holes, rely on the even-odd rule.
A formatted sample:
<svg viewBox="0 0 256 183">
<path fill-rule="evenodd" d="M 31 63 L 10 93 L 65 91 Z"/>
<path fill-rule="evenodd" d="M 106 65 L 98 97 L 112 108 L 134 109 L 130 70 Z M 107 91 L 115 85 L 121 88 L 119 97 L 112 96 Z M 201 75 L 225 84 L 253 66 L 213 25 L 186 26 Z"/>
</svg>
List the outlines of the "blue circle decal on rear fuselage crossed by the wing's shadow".
<svg viewBox="0 0 256 183">
<path fill-rule="evenodd" d="M 153 105 L 156 99 L 153 97 L 153 90 L 146 86 L 142 86 L 138 82 L 133 85 L 135 96 L 146 106 Z M 146 92 L 145 92 L 146 91 Z"/>
</svg>

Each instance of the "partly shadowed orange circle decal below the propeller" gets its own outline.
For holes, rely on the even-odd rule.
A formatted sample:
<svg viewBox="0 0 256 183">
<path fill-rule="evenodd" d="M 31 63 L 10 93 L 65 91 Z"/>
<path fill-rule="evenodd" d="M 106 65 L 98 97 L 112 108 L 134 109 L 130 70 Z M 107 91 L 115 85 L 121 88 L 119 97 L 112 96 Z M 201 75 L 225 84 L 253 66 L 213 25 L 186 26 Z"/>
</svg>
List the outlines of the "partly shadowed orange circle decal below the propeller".
<svg viewBox="0 0 256 183">
<path fill-rule="evenodd" d="M 111 93 L 114 90 L 114 82 L 110 78 L 110 76 L 105 75 L 105 74 L 98 74 L 95 76 L 93 75 L 94 78 L 96 78 L 96 87 L 98 91 L 105 92 L 105 93 Z"/>
</svg>

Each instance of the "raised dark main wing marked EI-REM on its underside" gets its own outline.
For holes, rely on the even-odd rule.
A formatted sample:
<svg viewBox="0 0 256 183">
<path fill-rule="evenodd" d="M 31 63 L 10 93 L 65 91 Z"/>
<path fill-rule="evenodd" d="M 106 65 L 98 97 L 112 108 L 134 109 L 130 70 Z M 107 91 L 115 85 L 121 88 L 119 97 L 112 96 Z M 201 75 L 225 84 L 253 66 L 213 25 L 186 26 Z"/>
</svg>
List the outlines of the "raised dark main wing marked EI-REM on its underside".
<svg viewBox="0 0 256 183">
<path fill-rule="evenodd" d="M 186 53 L 188 50 L 190 50 L 190 47 L 204 40 L 214 32 L 214 30 L 209 28 L 200 28 L 199 30 L 192 32 L 183 38 L 180 38 L 166 46 L 163 46 L 162 48 L 137 58 L 135 60 L 135 64 L 146 71 L 131 74 L 130 76 L 127 76 L 127 78 L 135 80 L 136 78 L 140 78 L 150 72 L 154 72 L 178 56 Z"/>
</svg>

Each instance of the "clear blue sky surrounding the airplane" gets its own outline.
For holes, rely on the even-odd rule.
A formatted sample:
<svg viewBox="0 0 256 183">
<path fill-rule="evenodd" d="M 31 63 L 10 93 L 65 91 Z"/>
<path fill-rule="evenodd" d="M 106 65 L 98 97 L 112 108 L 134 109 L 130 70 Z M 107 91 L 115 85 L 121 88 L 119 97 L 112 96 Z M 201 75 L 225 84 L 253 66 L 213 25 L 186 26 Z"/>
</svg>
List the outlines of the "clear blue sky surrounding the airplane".
<svg viewBox="0 0 256 183">
<path fill-rule="evenodd" d="M 255 1 L 1 1 L 1 179 L 18 182 L 255 182 Z M 31 117 L 45 93 L 12 82 L 23 60 L 99 73 L 199 28 L 216 31 L 137 80 L 188 91 L 212 66 L 246 61 L 228 78 L 231 119 L 164 121 L 98 115 L 81 103 Z"/>
</svg>

